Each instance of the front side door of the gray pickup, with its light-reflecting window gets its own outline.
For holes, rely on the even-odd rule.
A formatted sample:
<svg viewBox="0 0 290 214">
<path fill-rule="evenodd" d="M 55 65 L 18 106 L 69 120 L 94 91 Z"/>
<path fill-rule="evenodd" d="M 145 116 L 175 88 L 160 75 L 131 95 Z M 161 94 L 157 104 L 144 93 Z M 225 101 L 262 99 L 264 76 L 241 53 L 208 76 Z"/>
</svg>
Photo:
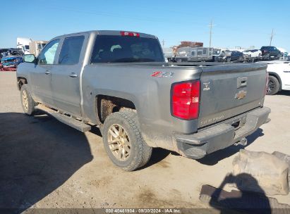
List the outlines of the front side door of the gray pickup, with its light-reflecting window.
<svg viewBox="0 0 290 214">
<path fill-rule="evenodd" d="M 52 68 L 56 63 L 59 39 L 49 42 L 38 57 L 37 65 L 32 68 L 31 85 L 35 101 L 54 106 L 52 100 Z"/>
</svg>

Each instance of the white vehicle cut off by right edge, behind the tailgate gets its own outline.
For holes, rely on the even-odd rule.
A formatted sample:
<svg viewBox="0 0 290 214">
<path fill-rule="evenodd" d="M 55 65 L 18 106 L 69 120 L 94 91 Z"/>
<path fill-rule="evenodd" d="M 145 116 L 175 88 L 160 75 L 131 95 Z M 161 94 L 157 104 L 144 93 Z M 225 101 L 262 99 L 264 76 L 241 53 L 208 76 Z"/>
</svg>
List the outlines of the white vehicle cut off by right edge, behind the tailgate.
<svg viewBox="0 0 290 214">
<path fill-rule="evenodd" d="M 267 72 L 269 80 L 267 94 L 273 95 L 281 90 L 290 90 L 290 62 L 271 61 L 268 62 Z"/>
</svg>

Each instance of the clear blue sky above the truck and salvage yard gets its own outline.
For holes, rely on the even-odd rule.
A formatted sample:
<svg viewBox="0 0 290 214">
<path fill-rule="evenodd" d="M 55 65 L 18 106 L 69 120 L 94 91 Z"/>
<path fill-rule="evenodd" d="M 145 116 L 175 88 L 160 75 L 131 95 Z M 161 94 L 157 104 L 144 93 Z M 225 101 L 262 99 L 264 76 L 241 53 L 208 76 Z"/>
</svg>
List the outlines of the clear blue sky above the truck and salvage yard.
<svg viewBox="0 0 290 214">
<path fill-rule="evenodd" d="M 131 30 L 155 34 L 164 46 L 181 41 L 209 46 L 260 48 L 270 44 L 290 51 L 290 0 L 97 1 L 1 0 L 0 48 L 16 37 L 49 40 L 86 30 Z"/>
</svg>

